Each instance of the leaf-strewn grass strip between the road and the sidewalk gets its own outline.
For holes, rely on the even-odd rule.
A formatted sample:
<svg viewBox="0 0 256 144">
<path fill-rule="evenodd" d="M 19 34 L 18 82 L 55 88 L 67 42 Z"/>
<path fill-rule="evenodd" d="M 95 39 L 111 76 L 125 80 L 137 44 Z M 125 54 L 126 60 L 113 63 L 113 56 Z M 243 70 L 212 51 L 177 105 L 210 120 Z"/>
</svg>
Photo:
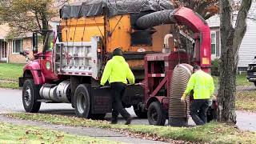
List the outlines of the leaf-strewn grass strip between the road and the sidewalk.
<svg viewBox="0 0 256 144">
<path fill-rule="evenodd" d="M 6 114 L 11 118 L 49 122 L 66 126 L 97 127 L 125 131 L 134 135 L 149 135 L 158 139 L 182 140 L 199 143 L 254 143 L 256 134 L 249 131 L 238 130 L 234 126 L 210 122 L 205 126 L 171 127 L 171 126 L 145 126 L 145 125 L 111 125 L 106 121 L 94 121 L 86 118 L 67 117 L 51 114 Z"/>
</svg>

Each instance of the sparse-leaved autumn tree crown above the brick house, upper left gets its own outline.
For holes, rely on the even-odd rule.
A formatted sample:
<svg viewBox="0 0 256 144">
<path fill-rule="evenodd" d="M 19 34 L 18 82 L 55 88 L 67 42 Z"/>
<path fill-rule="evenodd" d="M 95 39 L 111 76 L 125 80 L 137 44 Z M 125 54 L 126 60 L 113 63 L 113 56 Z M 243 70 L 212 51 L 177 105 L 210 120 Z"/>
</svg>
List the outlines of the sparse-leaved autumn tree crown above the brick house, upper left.
<svg viewBox="0 0 256 144">
<path fill-rule="evenodd" d="M 14 35 L 33 30 L 48 30 L 51 18 L 66 0 L 1 0 L 0 19 L 8 23 Z"/>
</svg>

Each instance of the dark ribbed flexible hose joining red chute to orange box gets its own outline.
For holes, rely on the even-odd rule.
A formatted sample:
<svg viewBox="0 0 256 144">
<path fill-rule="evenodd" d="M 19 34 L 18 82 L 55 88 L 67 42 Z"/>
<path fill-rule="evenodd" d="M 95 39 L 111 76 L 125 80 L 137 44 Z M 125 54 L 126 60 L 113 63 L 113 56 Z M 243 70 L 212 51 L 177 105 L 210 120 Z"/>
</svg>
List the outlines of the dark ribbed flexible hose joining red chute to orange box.
<svg viewBox="0 0 256 144">
<path fill-rule="evenodd" d="M 176 10 L 162 10 L 151 14 L 146 14 L 136 21 L 139 29 L 145 30 L 162 24 L 176 23 L 174 13 Z"/>
</svg>

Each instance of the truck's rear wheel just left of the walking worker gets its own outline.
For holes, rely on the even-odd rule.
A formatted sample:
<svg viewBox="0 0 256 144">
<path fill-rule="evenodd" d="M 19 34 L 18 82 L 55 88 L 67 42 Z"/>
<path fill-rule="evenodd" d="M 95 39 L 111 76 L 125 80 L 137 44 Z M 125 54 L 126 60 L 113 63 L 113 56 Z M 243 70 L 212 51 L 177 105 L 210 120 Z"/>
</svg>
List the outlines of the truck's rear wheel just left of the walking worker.
<svg viewBox="0 0 256 144">
<path fill-rule="evenodd" d="M 80 84 L 74 92 L 74 110 L 79 118 L 89 118 L 90 95 L 84 84 Z"/>
</svg>

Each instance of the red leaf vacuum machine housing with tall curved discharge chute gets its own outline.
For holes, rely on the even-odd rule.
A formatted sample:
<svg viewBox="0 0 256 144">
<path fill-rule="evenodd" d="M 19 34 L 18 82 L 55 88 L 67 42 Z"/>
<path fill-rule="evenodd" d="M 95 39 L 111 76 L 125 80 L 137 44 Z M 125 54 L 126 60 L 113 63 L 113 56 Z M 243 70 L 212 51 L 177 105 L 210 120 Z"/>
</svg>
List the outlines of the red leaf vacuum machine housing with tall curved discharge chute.
<svg viewBox="0 0 256 144">
<path fill-rule="evenodd" d="M 169 107 L 170 80 L 174 67 L 179 63 L 190 65 L 198 64 L 202 70 L 210 72 L 210 28 L 207 23 L 198 17 L 192 10 L 181 8 L 174 17 L 182 25 L 190 27 L 194 31 L 195 56 L 184 51 L 176 51 L 170 54 L 147 54 L 145 57 L 145 80 L 142 82 L 145 88 L 144 101 L 146 109 L 151 102 L 158 101 L 165 110 Z M 159 90 L 166 92 L 159 94 Z"/>
</svg>

